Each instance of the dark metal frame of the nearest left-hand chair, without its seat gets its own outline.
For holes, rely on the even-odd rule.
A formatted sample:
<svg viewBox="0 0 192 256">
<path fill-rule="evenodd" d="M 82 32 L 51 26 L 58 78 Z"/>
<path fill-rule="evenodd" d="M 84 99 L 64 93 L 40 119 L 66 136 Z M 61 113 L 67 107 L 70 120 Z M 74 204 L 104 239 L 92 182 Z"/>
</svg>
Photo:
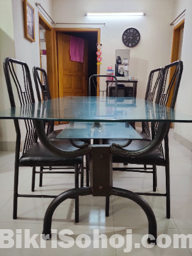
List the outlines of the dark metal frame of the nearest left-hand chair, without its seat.
<svg viewBox="0 0 192 256">
<path fill-rule="evenodd" d="M 23 87 L 21 85 L 21 81 L 18 80 L 16 76 L 16 71 L 14 65 L 20 65 L 23 71 Z M 9 93 L 10 105 L 12 108 L 16 107 L 15 99 L 13 95 L 12 84 L 15 84 L 18 98 L 20 101 L 20 105 L 27 105 L 35 102 L 34 98 L 34 91 L 32 89 L 32 81 L 30 78 L 30 71 L 29 67 L 26 63 L 20 62 L 19 60 L 15 60 L 12 58 L 7 57 L 4 59 L 4 74 L 5 80 L 7 84 L 7 90 Z M 12 80 L 10 79 L 12 77 Z M 28 107 L 27 107 L 28 108 Z M 21 107 L 21 111 L 23 108 Z M 34 123 L 31 119 L 24 120 L 26 125 L 26 138 L 24 141 L 24 148 L 23 154 L 28 151 L 35 143 L 37 143 L 37 133 L 35 132 Z M 48 197 L 48 198 L 55 198 L 56 196 L 51 195 L 42 195 L 42 194 L 18 194 L 18 179 L 19 179 L 19 166 L 20 166 L 20 144 L 21 144 L 21 131 L 20 131 L 20 124 L 18 119 L 14 119 L 15 124 L 15 131 L 16 131 L 16 147 L 15 147 L 15 176 L 14 176 L 14 194 L 13 194 L 13 219 L 17 218 L 17 208 L 18 208 L 18 197 Z M 23 155 L 22 154 L 22 155 Z M 72 166 L 72 165 L 69 165 Z M 75 171 L 75 188 L 79 188 L 79 165 L 74 164 Z M 32 191 L 34 191 L 35 186 L 35 173 L 40 173 L 41 171 L 35 171 L 36 166 L 32 166 Z M 50 173 L 50 172 L 44 172 Z M 55 172 L 52 172 L 55 173 Z M 66 173 L 66 172 L 63 172 Z M 71 172 L 68 172 L 71 173 Z M 71 197 L 76 200 L 76 222 L 79 221 L 79 198 L 78 197 Z M 78 206 L 78 207 L 77 207 Z"/>
</svg>

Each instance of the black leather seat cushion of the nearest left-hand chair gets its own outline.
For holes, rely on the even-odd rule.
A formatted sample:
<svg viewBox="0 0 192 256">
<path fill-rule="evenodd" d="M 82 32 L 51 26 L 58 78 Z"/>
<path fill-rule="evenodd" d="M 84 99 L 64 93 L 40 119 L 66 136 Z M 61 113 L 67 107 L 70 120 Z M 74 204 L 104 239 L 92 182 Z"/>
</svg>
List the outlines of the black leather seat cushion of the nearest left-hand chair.
<svg viewBox="0 0 192 256">
<path fill-rule="evenodd" d="M 69 143 L 69 140 L 52 140 L 52 144 L 66 151 L 77 150 Z M 76 144 L 84 144 L 82 141 L 76 141 Z M 75 165 L 83 163 L 83 157 L 76 158 L 62 158 L 57 157 L 44 148 L 44 146 L 37 142 L 20 158 L 20 166 L 63 166 L 63 165 Z"/>
</svg>

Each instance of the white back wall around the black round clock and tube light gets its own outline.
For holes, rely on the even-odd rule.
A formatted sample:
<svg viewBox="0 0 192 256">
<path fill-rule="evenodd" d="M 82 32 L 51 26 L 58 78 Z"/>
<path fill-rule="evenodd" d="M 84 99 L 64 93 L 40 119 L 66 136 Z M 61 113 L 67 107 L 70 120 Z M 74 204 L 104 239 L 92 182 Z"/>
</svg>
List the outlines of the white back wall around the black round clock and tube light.
<svg viewBox="0 0 192 256">
<path fill-rule="evenodd" d="M 149 73 L 171 59 L 174 0 L 52 0 L 53 20 L 57 23 L 106 23 L 104 25 L 57 25 L 59 27 L 100 27 L 102 43 L 101 74 L 115 68 L 115 49 L 127 49 L 122 41 L 124 30 L 135 27 L 140 43 L 130 49 L 130 75 L 138 79 L 137 96 L 144 98 Z M 146 16 L 90 17 L 87 12 L 144 12 Z M 104 83 L 105 84 L 105 83 Z M 104 85 L 103 85 L 104 86 Z"/>
</svg>

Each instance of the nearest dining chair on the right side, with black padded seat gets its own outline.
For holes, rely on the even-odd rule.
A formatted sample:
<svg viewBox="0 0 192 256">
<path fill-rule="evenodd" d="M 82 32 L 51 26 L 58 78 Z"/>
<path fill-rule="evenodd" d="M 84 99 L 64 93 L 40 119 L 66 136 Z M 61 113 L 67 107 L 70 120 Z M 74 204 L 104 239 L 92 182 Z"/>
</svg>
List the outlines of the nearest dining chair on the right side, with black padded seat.
<svg viewBox="0 0 192 256">
<path fill-rule="evenodd" d="M 171 70 L 172 69 L 172 70 Z M 170 73 L 170 70 L 172 71 Z M 166 65 L 163 71 L 162 85 L 158 87 L 157 98 L 155 99 L 155 103 L 162 105 L 162 107 L 166 107 L 168 104 L 168 100 L 171 99 L 170 108 L 174 109 L 177 99 L 177 93 L 179 90 L 180 79 L 182 77 L 183 71 L 183 62 L 178 60 L 177 62 L 173 62 L 169 65 Z M 168 80 L 168 74 L 171 74 Z M 149 102 L 150 104 L 150 102 Z M 158 122 L 152 122 L 152 139 L 157 137 L 158 135 Z M 170 218 L 170 177 L 169 177 L 169 143 L 168 143 L 168 133 L 169 129 L 166 132 L 164 138 L 164 148 L 163 151 L 162 143 L 158 146 L 157 149 L 152 151 L 148 155 L 144 155 L 144 157 L 125 157 L 122 155 L 113 155 L 113 163 L 130 163 L 136 165 L 152 165 L 155 166 L 165 166 L 165 176 L 166 176 L 166 193 L 137 193 L 144 196 L 165 196 L 166 197 L 166 218 Z M 126 144 L 127 140 L 107 140 L 107 144 Z M 129 146 L 125 149 L 129 151 L 134 151 L 136 149 L 142 149 L 145 146 L 150 145 L 150 141 L 140 140 L 140 141 L 132 141 Z M 140 172 L 148 172 L 151 171 L 143 170 L 144 168 L 133 168 L 132 171 L 140 171 Z M 151 168 L 147 168 L 151 169 Z M 130 168 L 113 168 L 114 171 L 131 171 Z M 156 171 L 156 169 L 155 169 Z M 156 183 L 156 176 L 153 177 L 153 184 Z M 154 186 L 153 186 L 154 187 Z M 156 190 L 156 185 L 154 187 Z M 107 204 L 108 208 L 108 204 Z"/>
</svg>

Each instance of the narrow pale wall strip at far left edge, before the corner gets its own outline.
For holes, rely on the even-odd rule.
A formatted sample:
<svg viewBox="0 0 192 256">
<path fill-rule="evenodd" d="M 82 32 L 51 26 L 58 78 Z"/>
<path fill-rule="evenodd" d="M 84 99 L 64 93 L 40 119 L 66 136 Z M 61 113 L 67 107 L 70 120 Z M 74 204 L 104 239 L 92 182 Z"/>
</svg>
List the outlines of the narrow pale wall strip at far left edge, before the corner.
<svg viewBox="0 0 192 256">
<path fill-rule="evenodd" d="M 10 108 L 7 85 L 3 71 L 5 57 L 15 58 L 12 0 L 0 2 L 0 111 Z M 0 121 L 0 150 L 10 150 L 15 147 L 15 127 L 13 120 Z M 7 145 L 10 141 L 10 147 Z M 9 144 L 9 143 L 8 143 Z"/>
</svg>

